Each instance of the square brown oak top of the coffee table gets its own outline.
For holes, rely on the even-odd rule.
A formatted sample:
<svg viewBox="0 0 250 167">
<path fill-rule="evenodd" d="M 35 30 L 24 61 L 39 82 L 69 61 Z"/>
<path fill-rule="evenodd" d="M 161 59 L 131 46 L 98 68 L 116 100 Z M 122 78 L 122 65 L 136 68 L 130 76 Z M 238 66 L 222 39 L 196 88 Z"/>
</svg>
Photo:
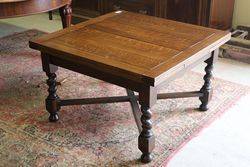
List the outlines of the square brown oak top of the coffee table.
<svg viewBox="0 0 250 167">
<path fill-rule="evenodd" d="M 154 85 L 211 53 L 229 32 L 127 11 L 113 12 L 30 41 L 31 48 Z"/>
</svg>

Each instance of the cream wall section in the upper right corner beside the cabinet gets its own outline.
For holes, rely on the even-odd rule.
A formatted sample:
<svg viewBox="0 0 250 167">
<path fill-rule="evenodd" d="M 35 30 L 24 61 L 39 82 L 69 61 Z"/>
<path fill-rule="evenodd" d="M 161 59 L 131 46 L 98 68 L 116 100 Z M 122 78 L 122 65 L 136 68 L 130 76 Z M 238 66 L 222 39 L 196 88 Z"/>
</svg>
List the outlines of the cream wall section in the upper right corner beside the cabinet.
<svg viewBox="0 0 250 167">
<path fill-rule="evenodd" d="M 250 26 L 250 0 L 235 0 L 233 27 Z"/>
</svg>

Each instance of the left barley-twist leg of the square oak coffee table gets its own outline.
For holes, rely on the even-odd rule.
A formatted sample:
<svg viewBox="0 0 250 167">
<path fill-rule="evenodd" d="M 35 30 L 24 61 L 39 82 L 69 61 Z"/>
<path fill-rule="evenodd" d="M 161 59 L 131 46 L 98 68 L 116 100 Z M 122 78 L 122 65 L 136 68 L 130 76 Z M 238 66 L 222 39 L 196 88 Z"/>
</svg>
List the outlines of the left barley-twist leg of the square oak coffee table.
<svg viewBox="0 0 250 167">
<path fill-rule="evenodd" d="M 56 94 L 57 84 L 56 84 L 56 74 L 55 73 L 46 73 L 48 76 L 47 84 L 49 86 L 48 92 L 49 96 L 46 99 L 46 109 L 50 113 L 49 121 L 56 122 L 58 121 L 58 111 L 60 109 L 59 101 L 60 98 Z"/>
</svg>

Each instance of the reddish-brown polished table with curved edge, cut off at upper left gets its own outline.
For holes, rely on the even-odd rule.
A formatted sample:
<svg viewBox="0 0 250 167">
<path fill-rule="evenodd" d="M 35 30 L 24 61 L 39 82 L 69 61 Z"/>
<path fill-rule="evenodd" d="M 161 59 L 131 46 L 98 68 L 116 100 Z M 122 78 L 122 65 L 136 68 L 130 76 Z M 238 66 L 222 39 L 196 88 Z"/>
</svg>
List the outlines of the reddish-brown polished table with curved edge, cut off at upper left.
<svg viewBox="0 0 250 167">
<path fill-rule="evenodd" d="M 63 27 L 71 24 L 71 0 L 2 0 L 0 19 L 26 16 L 59 9 Z"/>
</svg>

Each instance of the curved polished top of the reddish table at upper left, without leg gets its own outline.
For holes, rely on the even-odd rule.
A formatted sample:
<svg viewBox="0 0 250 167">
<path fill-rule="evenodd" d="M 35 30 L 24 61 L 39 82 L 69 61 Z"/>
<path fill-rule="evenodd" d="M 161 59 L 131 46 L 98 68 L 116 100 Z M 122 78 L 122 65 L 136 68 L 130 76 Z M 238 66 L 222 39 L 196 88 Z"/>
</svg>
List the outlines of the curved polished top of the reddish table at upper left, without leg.
<svg viewBox="0 0 250 167">
<path fill-rule="evenodd" d="M 0 3 L 0 19 L 43 13 L 71 4 L 71 0 L 25 0 Z"/>
</svg>

